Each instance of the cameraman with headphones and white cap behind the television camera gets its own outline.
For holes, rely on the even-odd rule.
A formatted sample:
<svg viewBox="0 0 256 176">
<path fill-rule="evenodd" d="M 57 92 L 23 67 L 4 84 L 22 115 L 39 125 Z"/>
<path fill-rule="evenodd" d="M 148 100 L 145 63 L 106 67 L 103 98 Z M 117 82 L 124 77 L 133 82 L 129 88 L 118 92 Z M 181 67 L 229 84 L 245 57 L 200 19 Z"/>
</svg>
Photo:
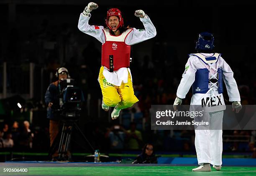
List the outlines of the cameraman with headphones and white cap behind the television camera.
<svg viewBox="0 0 256 176">
<path fill-rule="evenodd" d="M 55 113 L 57 109 L 60 109 L 60 80 L 67 79 L 69 77 L 69 72 L 66 68 L 61 67 L 57 69 L 56 77 L 58 80 L 56 82 L 52 82 L 45 93 L 45 102 L 48 105 L 47 107 L 47 118 L 50 119 L 49 125 L 49 134 L 50 134 L 50 145 L 52 146 L 54 139 L 56 138 L 57 134 L 59 133 L 59 125 L 60 125 L 60 114 Z M 58 156 L 57 150 L 52 155 L 52 160 L 56 161 Z"/>
</svg>

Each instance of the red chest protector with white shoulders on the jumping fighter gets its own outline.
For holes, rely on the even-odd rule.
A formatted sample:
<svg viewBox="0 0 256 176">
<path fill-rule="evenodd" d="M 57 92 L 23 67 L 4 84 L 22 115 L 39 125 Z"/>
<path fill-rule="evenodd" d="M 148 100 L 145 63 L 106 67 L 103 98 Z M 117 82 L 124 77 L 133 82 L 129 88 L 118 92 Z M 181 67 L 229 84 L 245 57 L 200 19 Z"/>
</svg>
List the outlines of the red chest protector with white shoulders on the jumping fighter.
<svg viewBox="0 0 256 176">
<path fill-rule="evenodd" d="M 106 42 L 102 44 L 101 65 L 110 72 L 130 67 L 131 46 L 125 44 L 125 39 L 132 30 L 128 29 L 121 35 L 113 36 L 109 29 L 103 29 Z"/>
</svg>

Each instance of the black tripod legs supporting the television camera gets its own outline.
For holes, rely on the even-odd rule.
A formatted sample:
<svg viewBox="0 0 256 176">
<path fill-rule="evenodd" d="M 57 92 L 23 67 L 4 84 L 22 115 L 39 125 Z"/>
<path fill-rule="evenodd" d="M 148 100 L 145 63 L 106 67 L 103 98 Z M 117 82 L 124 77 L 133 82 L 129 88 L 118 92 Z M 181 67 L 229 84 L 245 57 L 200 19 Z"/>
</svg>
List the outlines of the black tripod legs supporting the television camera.
<svg viewBox="0 0 256 176">
<path fill-rule="evenodd" d="M 89 144 L 90 148 L 92 149 L 92 152 L 94 152 L 94 148 L 92 147 L 88 139 L 84 136 L 82 130 L 79 128 L 79 126 L 76 123 L 78 119 L 62 119 L 61 121 L 63 122 L 62 130 L 59 131 L 58 135 L 54 139 L 53 144 L 51 145 L 49 157 L 51 157 L 52 154 L 54 154 L 54 152 L 58 147 L 58 154 L 59 154 L 58 160 L 59 161 L 69 160 L 69 158 L 67 158 L 66 155 L 67 155 L 67 152 L 69 151 L 71 135 L 74 128 L 77 129 L 77 131 L 79 131 L 84 141 L 86 141 Z M 59 144 L 59 146 L 57 144 Z"/>
</svg>

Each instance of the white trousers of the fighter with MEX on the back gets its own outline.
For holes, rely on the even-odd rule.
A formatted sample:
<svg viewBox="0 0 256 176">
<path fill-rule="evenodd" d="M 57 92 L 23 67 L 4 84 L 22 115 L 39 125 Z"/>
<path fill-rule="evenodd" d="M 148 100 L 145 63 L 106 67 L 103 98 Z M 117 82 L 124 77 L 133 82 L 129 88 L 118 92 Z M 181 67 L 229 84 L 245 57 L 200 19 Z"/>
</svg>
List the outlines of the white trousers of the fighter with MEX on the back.
<svg viewBox="0 0 256 176">
<path fill-rule="evenodd" d="M 195 130 L 195 148 L 199 165 L 210 163 L 222 165 L 222 121 L 223 111 L 204 113 L 210 126 Z"/>
</svg>

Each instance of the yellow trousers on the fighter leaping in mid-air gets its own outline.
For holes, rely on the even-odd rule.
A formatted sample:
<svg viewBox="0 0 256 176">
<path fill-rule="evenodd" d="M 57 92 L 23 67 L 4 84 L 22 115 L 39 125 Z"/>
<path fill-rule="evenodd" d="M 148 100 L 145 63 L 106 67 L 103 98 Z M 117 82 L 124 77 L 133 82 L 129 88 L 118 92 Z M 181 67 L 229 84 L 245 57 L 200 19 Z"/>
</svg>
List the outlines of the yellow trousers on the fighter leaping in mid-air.
<svg viewBox="0 0 256 176">
<path fill-rule="evenodd" d="M 125 109 L 133 106 L 139 100 L 134 95 L 133 83 L 131 82 L 131 75 L 128 72 L 128 82 L 120 86 L 115 86 L 107 82 L 103 76 L 104 67 L 100 67 L 99 82 L 103 96 L 103 102 L 109 107 L 115 107 L 117 104 L 118 109 Z"/>
</svg>

